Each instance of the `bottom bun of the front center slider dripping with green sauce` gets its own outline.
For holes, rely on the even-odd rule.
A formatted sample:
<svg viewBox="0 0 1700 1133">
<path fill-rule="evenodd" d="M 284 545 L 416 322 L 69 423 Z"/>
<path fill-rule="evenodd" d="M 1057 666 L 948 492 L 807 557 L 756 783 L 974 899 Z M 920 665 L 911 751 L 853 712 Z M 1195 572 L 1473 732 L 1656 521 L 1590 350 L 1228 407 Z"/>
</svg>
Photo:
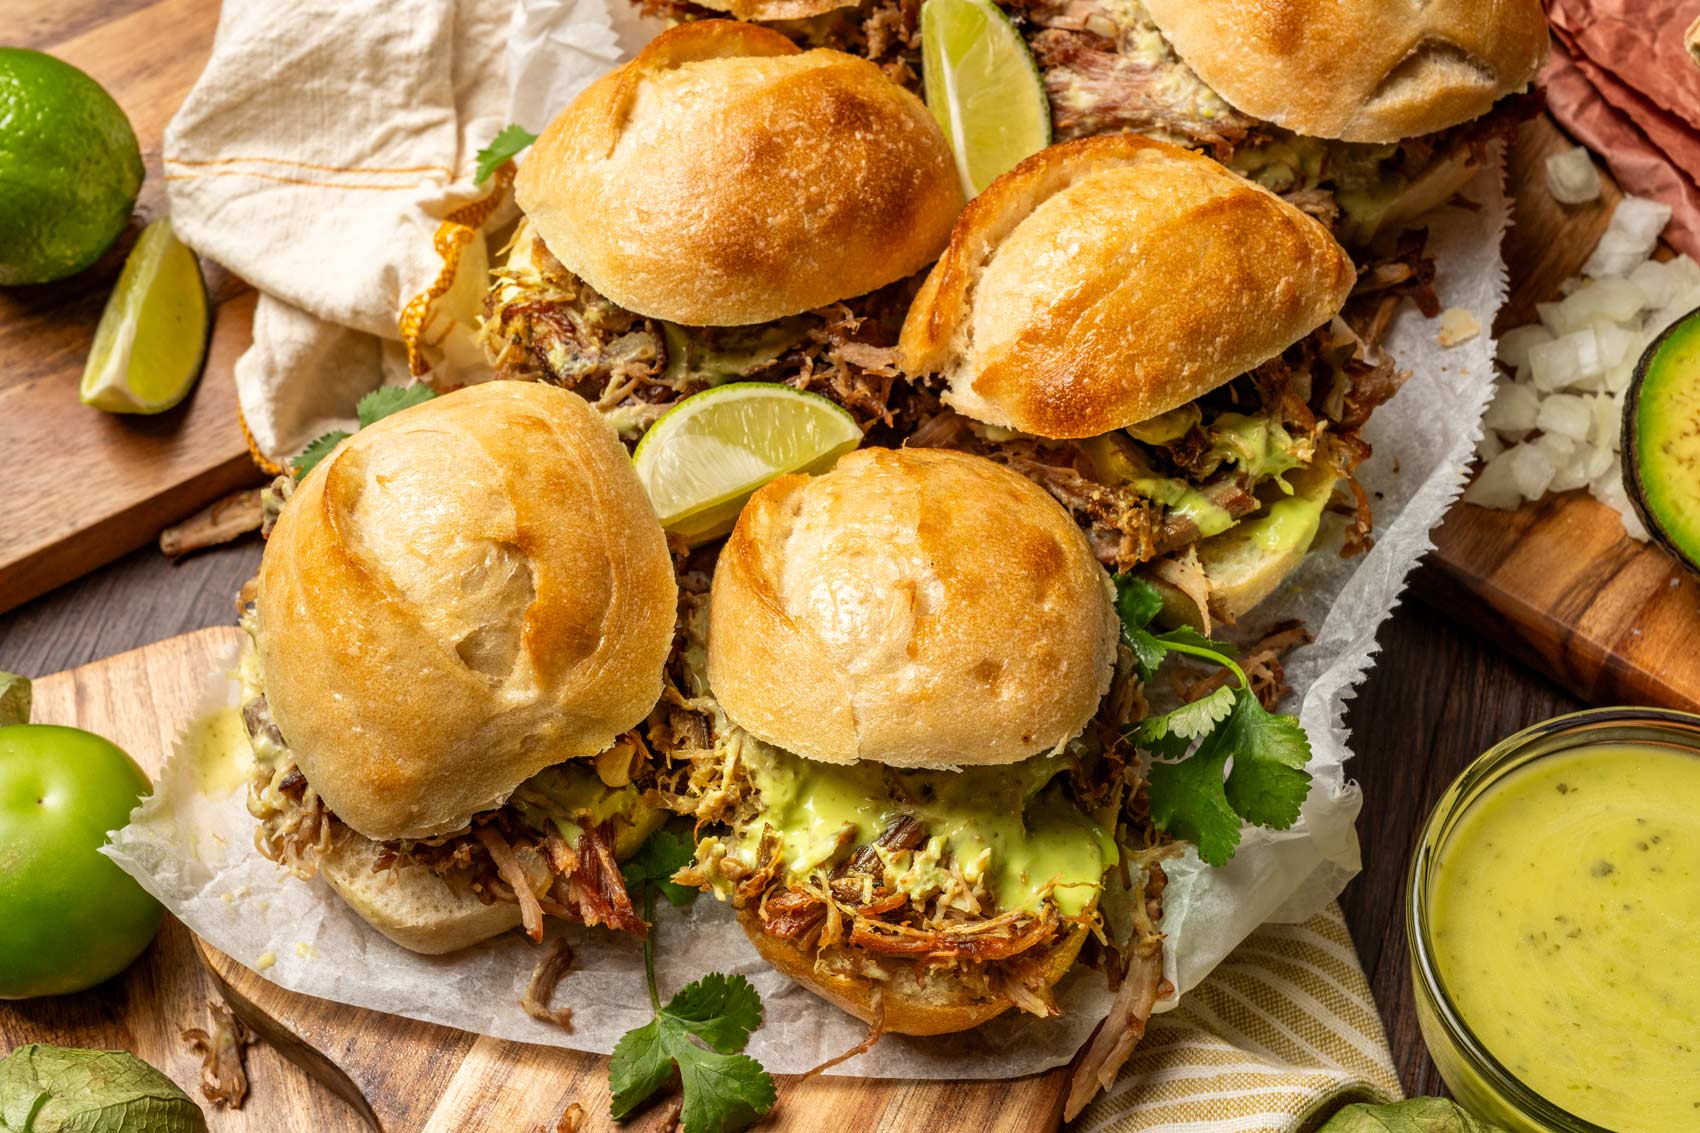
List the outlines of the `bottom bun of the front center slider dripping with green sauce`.
<svg viewBox="0 0 1700 1133">
<path fill-rule="evenodd" d="M 869 1026 L 874 1026 L 879 1009 L 884 1009 L 884 1029 L 891 1034 L 952 1034 L 978 1028 L 1013 1007 L 1003 995 L 988 999 L 952 971 L 921 968 L 908 959 L 884 961 L 891 978 L 881 982 L 816 966 L 813 949 L 768 934 L 753 912 L 740 912 L 738 924 L 762 953 L 762 959 L 826 1002 Z M 1044 963 L 1046 987 L 1056 987 L 1068 975 L 1085 942 L 1086 929 L 1074 929 L 1051 946 Z"/>
</svg>

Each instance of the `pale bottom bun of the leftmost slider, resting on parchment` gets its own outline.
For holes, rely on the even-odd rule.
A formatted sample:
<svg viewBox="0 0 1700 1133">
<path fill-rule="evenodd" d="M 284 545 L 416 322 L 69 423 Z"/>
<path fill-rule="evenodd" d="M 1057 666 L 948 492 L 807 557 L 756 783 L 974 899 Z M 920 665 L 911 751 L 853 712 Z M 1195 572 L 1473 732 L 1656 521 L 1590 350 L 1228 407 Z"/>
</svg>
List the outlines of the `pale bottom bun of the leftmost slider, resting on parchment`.
<svg viewBox="0 0 1700 1133">
<path fill-rule="evenodd" d="M 382 844 L 347 830 L 320 854 L 318 869 L 348 908 L 401 948 L 440 956 L 520 925 L 518 905 L 486 905 L 425 866 L 374 869 L 382 851 Z"/>
</svg>

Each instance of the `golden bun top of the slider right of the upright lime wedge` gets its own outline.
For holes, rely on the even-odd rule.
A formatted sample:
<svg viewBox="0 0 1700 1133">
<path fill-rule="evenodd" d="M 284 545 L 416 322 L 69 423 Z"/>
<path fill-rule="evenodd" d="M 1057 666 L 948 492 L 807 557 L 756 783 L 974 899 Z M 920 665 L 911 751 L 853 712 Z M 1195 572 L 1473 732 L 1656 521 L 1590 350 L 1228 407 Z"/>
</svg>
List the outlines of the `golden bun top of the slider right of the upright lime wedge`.
<svg viewBox="0 0 1700 1133">
<path fill-rule="evenodd" d="M 1357 276 L 1318 221 L 1134 134 L 991 182 L 903 323 L 898 361 L 993 425 L 1091 437 L 1185 405 L 1326 323 Z"/>
</svg>

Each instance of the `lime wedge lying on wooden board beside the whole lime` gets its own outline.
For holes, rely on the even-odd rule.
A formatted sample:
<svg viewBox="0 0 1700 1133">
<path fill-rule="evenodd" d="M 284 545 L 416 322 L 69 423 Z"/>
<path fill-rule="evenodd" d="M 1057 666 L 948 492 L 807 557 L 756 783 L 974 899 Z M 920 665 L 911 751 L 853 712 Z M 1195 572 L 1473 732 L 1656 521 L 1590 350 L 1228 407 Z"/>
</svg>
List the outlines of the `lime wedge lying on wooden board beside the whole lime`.
<svg viewBox="0 0 1700 1133">
<path fill-rule="evenodd" d="M 196 253 L 167 219 L 141 230 L 107 299 L 83 366 L 83 405 L 107 413 L 163 413 L 201 376 L 207 291 Z"/>
</svg>

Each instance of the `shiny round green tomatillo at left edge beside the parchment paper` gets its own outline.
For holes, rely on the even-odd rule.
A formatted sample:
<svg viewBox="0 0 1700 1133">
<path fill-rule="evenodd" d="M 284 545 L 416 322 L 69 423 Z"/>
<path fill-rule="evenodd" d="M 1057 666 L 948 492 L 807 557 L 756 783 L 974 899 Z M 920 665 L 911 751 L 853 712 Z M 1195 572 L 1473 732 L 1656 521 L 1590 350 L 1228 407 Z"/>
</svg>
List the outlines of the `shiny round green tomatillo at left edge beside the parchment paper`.
<svg viewBox="0 0 1700 1133">
<path fill-rule="evenodd" d="M 94 987 L 160 931 L 160 903 L 97 852 L 148 791 L 97 735 L 0 726 L 0 999 Z"/>
</svg>

